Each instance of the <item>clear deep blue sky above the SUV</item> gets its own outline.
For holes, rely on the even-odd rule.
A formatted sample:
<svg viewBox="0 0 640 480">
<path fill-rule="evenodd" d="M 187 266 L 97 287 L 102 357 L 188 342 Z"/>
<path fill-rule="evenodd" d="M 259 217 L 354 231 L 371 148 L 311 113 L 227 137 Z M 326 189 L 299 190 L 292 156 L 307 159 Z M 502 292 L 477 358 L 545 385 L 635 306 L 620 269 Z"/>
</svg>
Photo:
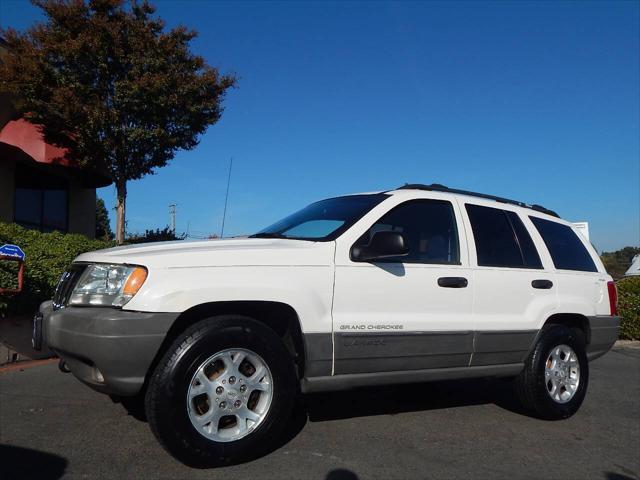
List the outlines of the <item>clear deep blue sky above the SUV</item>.
<svg viewBox="0 0 640 480">
<path fill-rule="evenodd" d="M 640 245 L 640 2 L 158 1 L 240 78 L 194 150 L 128 185 L 128 231 L 253 233 L 321 198 L 441 183 Z M 0 25 L 42 16 L 0 1 Z M 109 209 L 115 189 L 98 190 Z M 110 210 L 112 223 L 115 218 Z"/>
</svg>

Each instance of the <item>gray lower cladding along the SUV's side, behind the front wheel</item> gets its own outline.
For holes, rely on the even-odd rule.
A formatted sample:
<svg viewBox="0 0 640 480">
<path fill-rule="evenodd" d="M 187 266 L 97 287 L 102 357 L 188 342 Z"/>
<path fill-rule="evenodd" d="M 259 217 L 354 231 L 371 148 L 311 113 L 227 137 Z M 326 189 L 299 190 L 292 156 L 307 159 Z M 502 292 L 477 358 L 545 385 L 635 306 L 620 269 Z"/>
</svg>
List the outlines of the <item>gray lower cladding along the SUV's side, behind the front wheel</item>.
<svg viewBox="0 0 640 480">
<path fill-rule="evenodd" d="M 587 357 L 604 355 L 618 339 L 619 317 L 591 316 Z M 538 330 L 460 332 L 337 332 L 305 335 L 304 392 L 367 385 L 517 375 Z"/>
</svg>

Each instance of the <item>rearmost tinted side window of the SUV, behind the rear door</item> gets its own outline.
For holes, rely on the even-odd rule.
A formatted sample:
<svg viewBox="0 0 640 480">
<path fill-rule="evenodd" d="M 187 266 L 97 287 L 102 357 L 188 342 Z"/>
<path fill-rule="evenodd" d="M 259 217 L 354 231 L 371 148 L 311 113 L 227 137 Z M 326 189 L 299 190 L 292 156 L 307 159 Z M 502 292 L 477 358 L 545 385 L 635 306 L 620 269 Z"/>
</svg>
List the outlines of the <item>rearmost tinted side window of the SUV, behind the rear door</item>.
<svg viewBox="0 0 640 480">
<path fill-rule="evenodd" d="M 557 269 L 580 272 L 598 271 L 591 255 L 571 227 L 543 218 L 529 218 L 540 232 Z"/>
</svg>

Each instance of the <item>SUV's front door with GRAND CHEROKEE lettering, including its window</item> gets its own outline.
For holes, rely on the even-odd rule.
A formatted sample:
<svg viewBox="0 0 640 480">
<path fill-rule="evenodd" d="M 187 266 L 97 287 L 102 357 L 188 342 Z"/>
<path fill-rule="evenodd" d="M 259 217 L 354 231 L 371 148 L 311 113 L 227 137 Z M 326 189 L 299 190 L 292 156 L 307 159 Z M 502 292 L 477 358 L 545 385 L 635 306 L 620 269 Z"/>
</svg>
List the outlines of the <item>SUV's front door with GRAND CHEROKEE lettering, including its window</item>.
<svg viewBox="0 0 640 480">
<path fill-rule="evenodd" d="M 401 233 L 406 256 L 356 262 L 353 246 Z M 337 240 L 334 373 L 460 367 L 472 346 L 473 285 L 451 197 L 393 195 Z"/>
</svg>

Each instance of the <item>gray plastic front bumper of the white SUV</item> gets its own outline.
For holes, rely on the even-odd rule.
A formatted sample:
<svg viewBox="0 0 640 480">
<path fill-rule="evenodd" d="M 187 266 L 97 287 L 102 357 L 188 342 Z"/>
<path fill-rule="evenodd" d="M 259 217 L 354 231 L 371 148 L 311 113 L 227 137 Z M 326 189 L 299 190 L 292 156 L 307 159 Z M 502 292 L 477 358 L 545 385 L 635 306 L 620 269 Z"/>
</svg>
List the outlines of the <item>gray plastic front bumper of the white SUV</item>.
<svg viewBox="0 0 640 480">
<path fill-rule="evenodd" d="M 71 373 L 100 392 L 137 394 L 177 313 L 146 313 L 115 308 L 40 305 L 37 336 L 62 358 Z"/>
</svg>

